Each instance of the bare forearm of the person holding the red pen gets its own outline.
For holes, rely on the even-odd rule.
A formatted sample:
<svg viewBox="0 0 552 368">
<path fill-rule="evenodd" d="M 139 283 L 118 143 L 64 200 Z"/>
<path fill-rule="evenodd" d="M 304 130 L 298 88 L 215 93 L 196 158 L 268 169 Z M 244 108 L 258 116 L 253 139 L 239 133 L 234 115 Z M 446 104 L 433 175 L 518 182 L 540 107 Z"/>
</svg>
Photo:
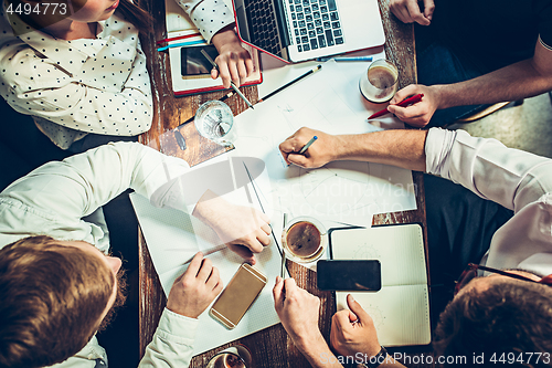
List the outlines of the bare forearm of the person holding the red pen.
<svg viewBox="0 0 552 368">
<path fill-rule="evenodd" d="M 438 92 L 438 108 L 495 104 L 537 96 L 552 90 L 552 74 L 528 59 L 476 78 L 431 86 Z"/>
</svg>

